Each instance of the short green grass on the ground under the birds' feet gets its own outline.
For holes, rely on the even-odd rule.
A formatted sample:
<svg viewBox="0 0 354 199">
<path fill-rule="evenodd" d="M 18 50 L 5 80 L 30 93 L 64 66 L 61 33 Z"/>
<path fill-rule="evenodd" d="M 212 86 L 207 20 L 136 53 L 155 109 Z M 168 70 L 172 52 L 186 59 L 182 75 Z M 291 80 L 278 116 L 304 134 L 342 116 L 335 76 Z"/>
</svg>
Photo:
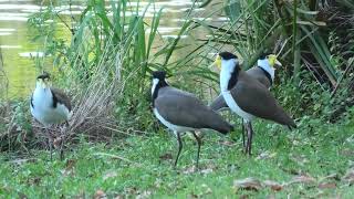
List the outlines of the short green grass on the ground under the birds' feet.
<svg viewBox="0 0 354 199">
<path fill-rule="evenodd" d="M 19 157 L 2 154 L 0 196 L 92 198 L 102 190 L 108 198 L 136 195 L 156 198 L 235 198 L 244 195 L 251 198 L 308 198 L 319 193 L 325 198 L 351 198 L 354 188 L 342 177 L 353 167 L 354 125 L 320 125 L 315 121 L 303 121 L 300 125 L 296 130 L 288 132 L 279 125 L 258 123 L 250 158 L 242 154 L 240 140 L 226 145 L 231 142 L 230 136 L 208 132 L 204 137 L 200 170 L 196 172 L 190 172 L 197 149 L 192 137 L 184 136 L 184 150 L 177 169 L 174 169 L 176 139 L 165 132 L 148 132 L 148 135 L 134 135 L 111 144 L 94 144 L 82 138 L 79 145 L 66 150 L 63 161 L 56 158 L 50 161 L 45 150 L 32 150 L 33 155 L 23 163 Z M 259 158 L 260 154 L 268 156 Z M 233 180 L 248 177 L 285 184 L 295 172 L 310 175 L 316 181 L 293 184 L 281 191 L 270 188 L 237 190 L 233 187 Z M 336 188 L 320 189 L 321 179 L 332 174 L 337 175 L 330 180 Z"/>
</svg>

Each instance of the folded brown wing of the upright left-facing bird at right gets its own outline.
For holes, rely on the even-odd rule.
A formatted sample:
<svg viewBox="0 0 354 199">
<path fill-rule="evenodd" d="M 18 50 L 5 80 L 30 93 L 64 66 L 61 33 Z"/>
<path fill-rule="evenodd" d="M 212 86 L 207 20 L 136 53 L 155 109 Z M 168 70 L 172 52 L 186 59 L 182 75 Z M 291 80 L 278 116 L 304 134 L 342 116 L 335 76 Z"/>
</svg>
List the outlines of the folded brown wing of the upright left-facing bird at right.
<svg viewBox="0 0 354 199">
<path fill-rule="evenodd" d="M 240 72 L 231 93 L 236 103 L 247 113 L 295 127 L 293 119 L 278 104 L 269 90 L 244 72 Z"/>
</svg>

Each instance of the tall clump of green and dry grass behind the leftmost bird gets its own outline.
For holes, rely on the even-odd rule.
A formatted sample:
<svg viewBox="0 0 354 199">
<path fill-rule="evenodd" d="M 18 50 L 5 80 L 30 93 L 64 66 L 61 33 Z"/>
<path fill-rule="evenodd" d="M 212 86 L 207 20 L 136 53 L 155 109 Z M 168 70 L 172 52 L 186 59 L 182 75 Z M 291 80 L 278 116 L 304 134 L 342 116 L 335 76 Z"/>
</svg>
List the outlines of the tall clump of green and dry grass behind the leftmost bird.
<svg viewBox="0 0 354 199">
<path fill-rule="evenodd" d="M 162 10 L 156 10 L 147 23 L 145 14 L 154 4 L 143 8 L 136 1 L 88 0 L 79 17 L 61 15 L 62 11 L 72 11 L 71 7 L 56 6 L 43 4 L 41 12 L 29 20 L 33 39 L 43 41 L 44 53 L 53 57 L 52 66 L 43 65 L 44 57 L 38 57 L 38 71 L 51 69 L 55 84 L 70 94 L 74 107 L 70 127 L 50 129 L 54 142 L 74 142 L 80 134 L 108 140 L 127 134 L 128 127 L 138 130 L 150 126 L 150 71 L 168 70 L 166 63 L 176 48 L 174 41 L 160 49 L 153 46 Z M 52 22 L 44 25 L 45 21 Z M 64 36 L 58 34 L 59 23 L 67 28 Z M 28 124 L 32 121 L 29 114 L 23 119 Z M 45 145 L 42 125 L 32 123 L 30 132 L 35 139 L 31 146 Z M 4 124 L 15 127 L 11 119 Z M 2 149 L 15 146 L 18 139 L 9 137 L 18 135 L 18 130 L 8 130 L 1 143 L 9 147 Z"/>
</svg>

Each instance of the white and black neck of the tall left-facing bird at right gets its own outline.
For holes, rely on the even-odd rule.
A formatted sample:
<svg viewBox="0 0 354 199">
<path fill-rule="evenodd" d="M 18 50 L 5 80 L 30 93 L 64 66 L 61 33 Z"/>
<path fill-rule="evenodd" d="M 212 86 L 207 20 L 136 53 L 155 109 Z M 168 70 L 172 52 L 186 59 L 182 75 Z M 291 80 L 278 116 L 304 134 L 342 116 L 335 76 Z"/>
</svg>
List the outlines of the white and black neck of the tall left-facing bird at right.
<svg viewBox="0 0 354 199">
<path fill-rule="evenodd" d="M 221 92 L 230 91 L 238 81 L 239 66 L 238 63 L 230 61 L 222 61 L 221 73 L 220 73 L 220 88 Z"/>
</svg>

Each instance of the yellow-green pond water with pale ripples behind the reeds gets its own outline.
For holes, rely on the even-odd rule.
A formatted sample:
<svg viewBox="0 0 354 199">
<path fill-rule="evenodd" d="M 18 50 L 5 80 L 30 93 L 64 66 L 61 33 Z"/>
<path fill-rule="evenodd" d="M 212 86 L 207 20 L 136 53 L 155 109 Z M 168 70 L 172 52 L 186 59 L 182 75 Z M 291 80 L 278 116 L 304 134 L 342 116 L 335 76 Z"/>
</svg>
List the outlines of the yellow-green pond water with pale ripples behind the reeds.
<svg viewBox="0 0 354 199">
<path fill-rule="evenodd" d="M 82 1 L 72 1 L 73 11 L 70 12 L 64 1 L 55 9 L 62 10 L 61 14 L 80 14 L 84 7 Z M 34 59 L 43 56 L 43 42 L 33 41 L 34 34 L 31 32 L 27 21 L 33 13 L 40 12 L 41 1 L 39 0 L 0 0 L 0 48 L 3 57 L 3 67 L 9 80 L 8 97 L 28 97 L 35 84 L 35 76 L 40 72 L 38 65 L 45 65 L 50 70 L 51 57 Z M 134 6 L 134 2 L 132 2 Z M 159 33 L 163 39 L 176 36 L 177 31 L 183 24 L 183 17 L 192 1 L 190 0 L 165 0 L 156 1 L 155 10 L 164 7 L 164 15 L 159 25 Z M 140 2 L 140 7 L 146 7 L 147 2 Z M 107 3 L 108 7 L 108 3 Z M 148 9 L 148 18 L 153 15 L 154 9 Z M 197 9 L 196 12 L 205 12 L 205 9 Z M 198 14 L 196 14 L 198 15 Z M 201 15 L 201 14 L 200 14 Z M 211 19 L 206 19 L 211 20 Z M 226 19 L 217 19 L 223 21 Z M 70 39 L 70 32 L 62 25 L 59 34 Z M 202 33 L 200 33 L 202 34 Z M 184 35 L 183 39 L 187 39 Z M 42 63 L 39 63 L 39 60 Z M 2 94 L 3 95 L 3 94 Z"/>
</svg>

